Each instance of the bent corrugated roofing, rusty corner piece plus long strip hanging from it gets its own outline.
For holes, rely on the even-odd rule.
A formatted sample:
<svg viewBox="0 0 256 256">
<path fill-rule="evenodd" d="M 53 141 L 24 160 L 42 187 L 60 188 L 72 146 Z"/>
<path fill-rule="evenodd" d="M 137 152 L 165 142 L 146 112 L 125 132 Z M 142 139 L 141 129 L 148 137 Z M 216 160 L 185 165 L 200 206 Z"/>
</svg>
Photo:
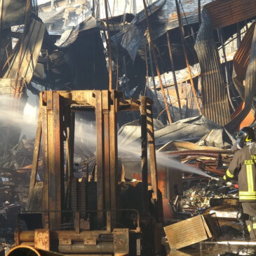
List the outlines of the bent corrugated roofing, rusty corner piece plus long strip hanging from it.
<svg viewBox="0 0 256 256">
<path fill-rule="evenodd" d="M 220 57 L 213 41 L 213 29 L 227 27 L 255 15 L 255 0 L 217 0 L 203 7 L 203 20 L 195 44 L 201 67 L 202 110 L 203 114 L 222 126 L 230 120 L 229 102 Z M 250 110 L 246 109 L 243 112 Z"/>
</svg>

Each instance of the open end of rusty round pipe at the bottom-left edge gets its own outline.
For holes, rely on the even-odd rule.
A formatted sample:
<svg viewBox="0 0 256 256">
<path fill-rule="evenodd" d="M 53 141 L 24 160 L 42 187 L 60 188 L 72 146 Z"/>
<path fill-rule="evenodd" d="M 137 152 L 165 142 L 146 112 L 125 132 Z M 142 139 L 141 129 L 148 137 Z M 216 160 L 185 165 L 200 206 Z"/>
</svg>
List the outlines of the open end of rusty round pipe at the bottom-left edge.
<svg viewBox="0 0 256 256">
<path fill-rule="evenodd" d="M 41 250 L 28 245 L 19 245 L 12 248 L 6 256 L 62 256 L 62 254 Z"/>
</svg>

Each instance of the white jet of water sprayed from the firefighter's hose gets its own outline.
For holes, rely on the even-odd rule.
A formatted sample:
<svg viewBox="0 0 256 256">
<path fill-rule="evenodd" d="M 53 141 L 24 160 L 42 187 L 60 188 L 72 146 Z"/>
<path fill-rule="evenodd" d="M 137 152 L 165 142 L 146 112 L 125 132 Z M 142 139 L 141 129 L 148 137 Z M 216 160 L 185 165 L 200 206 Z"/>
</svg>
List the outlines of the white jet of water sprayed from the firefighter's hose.
<svg viewBox="0 0 256 256">
<path fill-rule="evenodd" d="M 18 112 L 13 112 L 13 110 L 10 107 L 11 101 L 10 97 L 1 96 L 0 100 L 0 120 L 2 121 L 11 121 L 17 126 L 20 126 L 22 129 L 26 131 L 31 131 L 32 133 L 35 133 L 36 129 L 36 108 L 32 106 L 25 107 L 25 117 L 22 116 L 22 114 Z M 85 123 L 86 122 L 86 123 Z M 83 142 L 86 147 L 88 147 L 91 151 L 96 150 L 96 134 L 95 134 L 95 124 L 94 122 L 88 122 L 88 121 L 77 121 L 75 125 L 76 131 L 75 131 L 75 140 Z M 134 140 L 130 144 L 125 144 L 123 142 L 126 141 L 125 137 L 122 137 L 121 135 L 118 136 L 119 141 L 119 155 L 121 156 L 133 156 L 138 159 L 141 157 L 141 145 L 139 142 Z M 184 163 L 180 163 L 180 161 L 177 161 L 173 159 L 171 156 L 166 156 L 166 154 L 163 154 L 159 151 L 156 151 L 156 161 L 157 163 L 170 167 L 175 168 L 177 170 L 181 170 L 188 173 L 195 173 L 197 175 L 203 175 L 205 177 L 209 177 L 212 180 L 219 180 L 216 177 L 212 177 L 206 173 L 204 173 L 202 170 L 199 170 L 197 168 L 187 166 Z"/>
</svg>

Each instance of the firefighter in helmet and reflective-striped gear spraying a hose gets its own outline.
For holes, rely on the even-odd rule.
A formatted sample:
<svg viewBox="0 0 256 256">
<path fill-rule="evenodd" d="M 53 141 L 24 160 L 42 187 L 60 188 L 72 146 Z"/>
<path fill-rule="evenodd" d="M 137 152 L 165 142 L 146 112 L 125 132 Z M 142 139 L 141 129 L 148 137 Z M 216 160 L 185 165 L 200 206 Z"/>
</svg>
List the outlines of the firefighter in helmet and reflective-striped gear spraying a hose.
<svg viewBox="0 0 256 256">
<path fill-rule="evenodd" d="M 256 142 L 254 130 L 244 127 L 238 132 L 236 144 L 239 150 L 223 176 L 224 182 L 238 179 L 238 195 L 243 213 L 250 216 L 245 220 L 250 240 L 256 240 Z"/>
</svg>

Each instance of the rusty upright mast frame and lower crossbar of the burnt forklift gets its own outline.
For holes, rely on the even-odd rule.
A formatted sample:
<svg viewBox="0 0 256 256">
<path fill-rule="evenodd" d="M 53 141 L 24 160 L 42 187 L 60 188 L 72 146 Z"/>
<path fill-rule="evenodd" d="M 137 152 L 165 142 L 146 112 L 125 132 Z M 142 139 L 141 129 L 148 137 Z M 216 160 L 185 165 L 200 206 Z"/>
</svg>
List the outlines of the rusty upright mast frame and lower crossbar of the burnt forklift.
<svg viewBox="0 0 256 256">
<path fill-rule="evenodd" d="M 32 243 L 36 248 L 52 250 L 58 244 L 62 253 L 109 253 L 109 255 L 128 255 L 130 233 L 142 234 L 135 246 L 140 255 L 140 240 L 143 228 L 140 223 L 149 216 L 148 209 L 148 170 L 147 145 L 150 157 L 150 175 L 152 198 L 156 206 L 155 224 L 161 222 L 162 213 L 159 203 L 158 180 L 156 170 L 156 152 L 154 145 L 154 127 L 152 117 L 153 102 L 147 97 L 141 100 L 123 100 L 117 90 L 72 90 L 45 91 L 40 93 L 39 120 L 36 130 L 34 159 L 29 187 L 29 208 L 41 213 L 42 228 L 30 231 L 17 229 L 16 245 Z M 81 220 L 79 210 L 74 214 L 74 230 L 61 230 L 62 222 L 71 206 L 71 184 L 74 159 L 74 113 L 76 111 L 94 111 L 96 121 L 96 160 L 97 160 L 97 230 L 90 230 Z M 119 209 L 118 149 L 116 114 L 120 111 L 140 111 L 142 127 L 142 213 L 135 209 Z M 86 133 L 86 131 L 85 131 Z M 64 142 L 66 157 L 64 157 Z M 39 151 L 43 157 L 43 189 L 41 209 L 34 209 L 36 177 L 39 163 Z M 64 166 L 66 164 L 66 170 Z M 160 199 L 161 200 L 161 199 Z M 119 212 L 133 211 L 137 215 L 137 227 L 116 228 Z M 153 224 L 153 233 L 158 225 Z M 107 242 L 99 237 L 109 236 Z M 154 234 L 151 234 L 154 236 Z M 157 238 L 156 238 L 157 240 Z M 42 242 L 43 241 L 43 242 Z M 54 241 L 54 242 L 53 242 Z M 137 245 L 136 245 L 137 243 Z M 161 247 L 161 246 L 160 246 Z M 155 252 L 159 245 L 154 247 Z M 138 254 L 139 253 L 139 254 Z M 153 253 L 153 252 L 152 252 Z"/>
</svg>

